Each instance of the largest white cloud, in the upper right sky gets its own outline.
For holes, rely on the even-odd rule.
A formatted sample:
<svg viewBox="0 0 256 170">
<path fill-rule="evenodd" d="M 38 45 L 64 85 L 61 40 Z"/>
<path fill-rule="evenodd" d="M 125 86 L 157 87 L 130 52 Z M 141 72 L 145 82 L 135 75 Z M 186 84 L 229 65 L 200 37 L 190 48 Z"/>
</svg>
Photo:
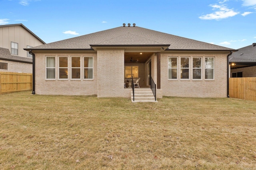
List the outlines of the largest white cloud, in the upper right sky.
<svg viewBox="0 0 256 170">
<path fill-rule="evenodd" d="M 239 12 L 235 12 L 233 9 L 228 9 L 225 4 L 211 4 L 210 5 L 213 10 L 216 10 L 216 12 L 211 14 L 206 14 L 204 16 L 200 16 L 199 18 L 202 20 L 220 20 L 228 17 L 235 16 L 239 14 Z"/>
</svg>

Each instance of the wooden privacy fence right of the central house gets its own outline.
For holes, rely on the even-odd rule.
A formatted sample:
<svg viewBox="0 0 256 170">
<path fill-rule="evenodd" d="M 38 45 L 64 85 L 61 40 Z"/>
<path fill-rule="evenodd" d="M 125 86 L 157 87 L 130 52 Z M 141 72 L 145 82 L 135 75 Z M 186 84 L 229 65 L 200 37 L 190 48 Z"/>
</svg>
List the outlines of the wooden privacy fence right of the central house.
<svg viewBox="0 0 256 170">
<path fill-rule="evenodd" d="M 256 77 L 229 78 L 229 96 L 256 101 Z"/>
</svg>

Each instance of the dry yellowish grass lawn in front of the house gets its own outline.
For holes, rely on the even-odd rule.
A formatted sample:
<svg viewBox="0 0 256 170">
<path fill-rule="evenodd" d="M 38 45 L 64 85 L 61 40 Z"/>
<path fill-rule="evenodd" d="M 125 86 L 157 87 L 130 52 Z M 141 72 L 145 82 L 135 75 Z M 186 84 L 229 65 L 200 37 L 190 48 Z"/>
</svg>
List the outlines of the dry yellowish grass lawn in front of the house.
<svg viewBox="0 0 256 170">
<path fill-rule="evenodd" d="M 256 102 L 0 96 L 0 169 L 256 169 Z"/>
</svg>

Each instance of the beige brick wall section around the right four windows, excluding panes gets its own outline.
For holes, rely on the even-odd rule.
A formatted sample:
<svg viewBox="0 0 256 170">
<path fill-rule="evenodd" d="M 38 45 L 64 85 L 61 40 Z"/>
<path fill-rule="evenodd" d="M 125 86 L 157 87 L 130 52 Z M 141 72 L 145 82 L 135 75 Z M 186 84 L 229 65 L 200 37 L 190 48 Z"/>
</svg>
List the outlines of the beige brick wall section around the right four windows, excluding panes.
<svg viewBox="0 0 256 170">
<path fill-rule="evenodd" d="M 221 53 L 161 53 L 161 89 L 163 96 L 226 97 L 227 55 Z M 168 57 L 178 57 L 178 80 L 168 80 Z M 190 57 L 190 79 L 180 80 L 180 57 Z M 202 80 L 192 80 L 192 57 L 203 57 Z M 214 57 L 214 80 L 204 79 L 204 58 Z"/>
</svg>

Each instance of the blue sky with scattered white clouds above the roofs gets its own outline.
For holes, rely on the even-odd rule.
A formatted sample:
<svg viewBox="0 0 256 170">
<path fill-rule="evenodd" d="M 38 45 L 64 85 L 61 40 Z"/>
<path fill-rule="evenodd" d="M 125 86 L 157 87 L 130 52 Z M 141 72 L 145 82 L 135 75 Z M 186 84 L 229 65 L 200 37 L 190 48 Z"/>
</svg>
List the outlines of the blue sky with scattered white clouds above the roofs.
<svg viewBox="0 0 256 170">
<path fill-rule="evenodd" d="M 0 25 L 46 43 L 123 23 L 239 49 L 256 43 L 256 0 L 0 0 Z"/>
</svg>

